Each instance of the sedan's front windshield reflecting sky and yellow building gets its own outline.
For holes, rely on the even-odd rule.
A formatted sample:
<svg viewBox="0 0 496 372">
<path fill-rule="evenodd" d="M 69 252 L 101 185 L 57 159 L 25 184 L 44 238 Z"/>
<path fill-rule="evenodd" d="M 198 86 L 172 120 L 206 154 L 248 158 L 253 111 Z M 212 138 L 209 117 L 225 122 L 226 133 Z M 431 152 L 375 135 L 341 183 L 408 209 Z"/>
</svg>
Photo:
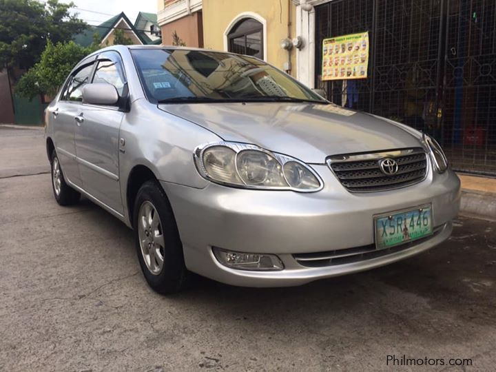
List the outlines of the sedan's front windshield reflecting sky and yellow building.
<svg viewBox="0 0 496 372">
<path fill-rule="evenodd" d="M 153 103 L 328 103 L 285 72 L 249 56 L 167 48 L 135 49 L 131 53 Z"/>
</svg>

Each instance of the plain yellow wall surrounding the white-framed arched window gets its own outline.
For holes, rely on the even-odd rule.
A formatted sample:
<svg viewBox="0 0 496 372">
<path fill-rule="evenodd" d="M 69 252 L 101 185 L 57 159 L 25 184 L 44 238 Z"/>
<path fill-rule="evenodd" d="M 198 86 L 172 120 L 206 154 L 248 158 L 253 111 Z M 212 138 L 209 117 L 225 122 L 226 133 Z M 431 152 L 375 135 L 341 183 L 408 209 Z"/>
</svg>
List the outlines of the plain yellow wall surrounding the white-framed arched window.
<svg viewBox="0 0 496 372">
<path fill-rule="evenodd" d="M 288 37 L 288 10 L 291 7 L 291 38 L 296 36 L 295 7 L 291 0 L 203 0 L 204 48 L 224 50 L 224 32 L 242 12 L 254 12 L 267 21 L 267 62 L 283 69 L 287 51 L 280 41 Z M 291 75 L 296 76 L 296 50 L 291 50 Z"/>
</svg>

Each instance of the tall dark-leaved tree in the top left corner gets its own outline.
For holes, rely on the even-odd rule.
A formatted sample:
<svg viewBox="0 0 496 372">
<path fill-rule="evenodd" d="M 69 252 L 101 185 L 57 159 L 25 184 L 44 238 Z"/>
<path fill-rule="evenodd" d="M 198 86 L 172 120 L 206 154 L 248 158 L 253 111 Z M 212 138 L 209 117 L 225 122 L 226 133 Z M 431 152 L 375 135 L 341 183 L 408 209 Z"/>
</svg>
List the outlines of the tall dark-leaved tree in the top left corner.
<svg viewBox="0 0 496 372">
<path fill-rule="evenodd" d="M 70 41 L 87 24 L 71 14 L 74 3 L 48 0 L 0 0 L 0 69 L 30 68 L 39 61 L 48 39 Z"/>
</svg>

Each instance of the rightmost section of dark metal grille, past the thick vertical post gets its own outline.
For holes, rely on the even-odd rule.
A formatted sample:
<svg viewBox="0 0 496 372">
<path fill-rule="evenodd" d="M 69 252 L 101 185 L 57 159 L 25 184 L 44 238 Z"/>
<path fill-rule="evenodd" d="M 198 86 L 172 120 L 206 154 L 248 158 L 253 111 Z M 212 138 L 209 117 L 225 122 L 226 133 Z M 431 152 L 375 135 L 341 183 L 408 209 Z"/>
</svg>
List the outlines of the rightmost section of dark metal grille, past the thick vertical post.
<svg viewBox="0 0 496 372">
<path fill-rule="evenodd" d="M 442 143 L 453 167 L 496 175 L 496 1 L 448 1 Z"/>
</svg>

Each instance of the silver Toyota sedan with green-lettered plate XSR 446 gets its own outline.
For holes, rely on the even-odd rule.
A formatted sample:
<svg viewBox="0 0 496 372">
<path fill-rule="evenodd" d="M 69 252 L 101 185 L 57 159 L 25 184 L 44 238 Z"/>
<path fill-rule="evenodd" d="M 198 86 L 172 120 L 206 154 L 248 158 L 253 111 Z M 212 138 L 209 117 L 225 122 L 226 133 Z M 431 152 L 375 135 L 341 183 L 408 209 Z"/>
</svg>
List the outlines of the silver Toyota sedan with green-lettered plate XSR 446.
<svg viewBox="0 0 496 372">
<path fill-rule="evenodd" d="M 105 48 L 45 119 L 56 201 L 82 194 L 134 229 L 161 293 L 190 271 L 279 287 L 379 267 L 446 240 L 459 209 L 434 138 L 251 56 Z"/>
</svg>

